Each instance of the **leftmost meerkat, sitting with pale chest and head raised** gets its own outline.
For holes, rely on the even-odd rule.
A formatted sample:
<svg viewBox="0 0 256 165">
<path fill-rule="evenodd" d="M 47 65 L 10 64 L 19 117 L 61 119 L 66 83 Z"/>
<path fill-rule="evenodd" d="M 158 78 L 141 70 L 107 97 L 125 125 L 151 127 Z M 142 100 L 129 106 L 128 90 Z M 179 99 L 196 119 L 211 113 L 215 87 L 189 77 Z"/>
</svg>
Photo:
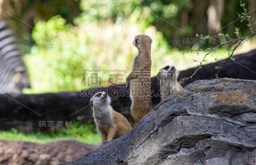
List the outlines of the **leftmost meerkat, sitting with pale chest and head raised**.
<svg viewBox="0 0 256 165">
<path fill-rule="evenodd" d="M 113 140 L 131 131 L 128 120 L 110 106 L 111 99 L 105 92 L 96 93 L 90 100 L 93 118 L 103 141 Z"/>
</svg>

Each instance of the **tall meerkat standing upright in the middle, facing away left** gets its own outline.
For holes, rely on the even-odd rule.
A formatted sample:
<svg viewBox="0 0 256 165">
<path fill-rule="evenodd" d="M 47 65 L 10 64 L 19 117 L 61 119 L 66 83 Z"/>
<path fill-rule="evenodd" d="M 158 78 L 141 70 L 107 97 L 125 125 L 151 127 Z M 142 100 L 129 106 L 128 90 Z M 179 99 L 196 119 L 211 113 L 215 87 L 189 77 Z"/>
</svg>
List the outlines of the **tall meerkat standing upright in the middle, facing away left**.
<svg viewBox="0 0 256 165">
<path fill-rule="evenodd" d="M 130 89 L 132 100 L 131 114 L 137 123 L 152 109 L 150 93 L 151 43 L 152 39 L 147 35 L 135 37 L 133 45 L 138 48 L 139 52 L 134 58 L 131 73 L 126 77 L 126 89 Z"/>
</svg>

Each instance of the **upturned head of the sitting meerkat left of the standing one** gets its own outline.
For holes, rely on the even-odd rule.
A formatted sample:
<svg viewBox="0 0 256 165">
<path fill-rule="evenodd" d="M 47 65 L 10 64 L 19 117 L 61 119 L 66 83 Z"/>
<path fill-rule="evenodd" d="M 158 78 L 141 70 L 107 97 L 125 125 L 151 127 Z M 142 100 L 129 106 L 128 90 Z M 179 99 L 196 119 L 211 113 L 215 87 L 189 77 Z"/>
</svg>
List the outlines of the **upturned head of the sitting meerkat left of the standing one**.
<svg viewBox="0 0 256 165">
<path fill-rule="evenodd" d="M 108 106 L 111 102 L 110 97 L 108 97 L 108 94 L 106 92 L 98 92 L 96 93 L 90 100 L 90 105 L 94 107 L 104 107 Z"/>
</svg>

